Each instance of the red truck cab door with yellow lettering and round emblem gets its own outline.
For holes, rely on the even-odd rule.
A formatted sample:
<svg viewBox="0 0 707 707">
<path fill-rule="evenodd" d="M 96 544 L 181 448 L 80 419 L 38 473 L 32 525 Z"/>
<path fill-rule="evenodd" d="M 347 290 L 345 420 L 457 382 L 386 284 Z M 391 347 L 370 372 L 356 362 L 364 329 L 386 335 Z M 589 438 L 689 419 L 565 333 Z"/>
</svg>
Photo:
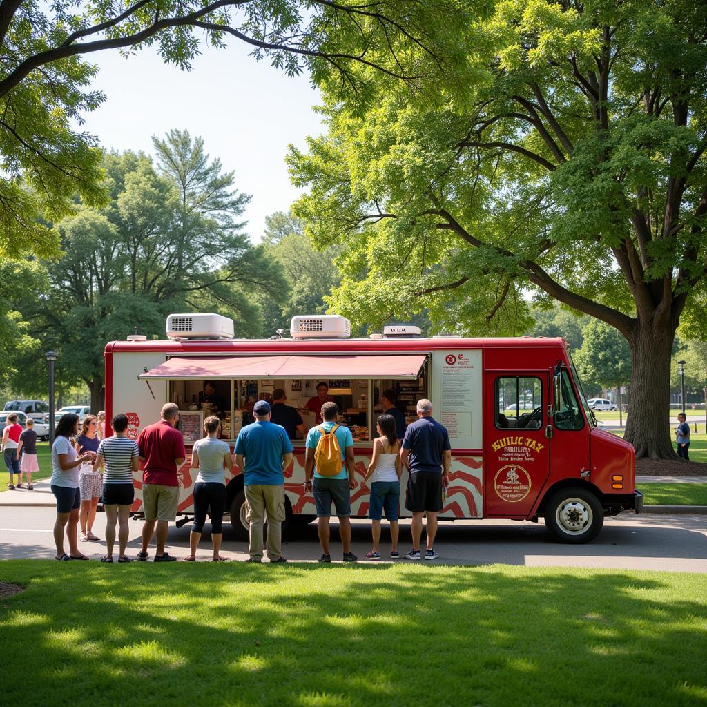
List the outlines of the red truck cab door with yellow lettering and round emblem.
<svg viewBox="0 0 707 707">
<path fill-rule="evenodd" d="M 549 373 L 487 371 L 486 516 L 525 517 L 549 477 Z"/>
</svg>

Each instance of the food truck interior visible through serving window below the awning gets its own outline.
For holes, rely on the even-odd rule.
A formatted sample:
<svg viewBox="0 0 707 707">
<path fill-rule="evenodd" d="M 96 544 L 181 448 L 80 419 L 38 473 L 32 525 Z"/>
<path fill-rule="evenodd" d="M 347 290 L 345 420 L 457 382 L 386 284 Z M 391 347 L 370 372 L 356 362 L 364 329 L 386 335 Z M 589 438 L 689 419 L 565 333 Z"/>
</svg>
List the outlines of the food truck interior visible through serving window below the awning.
<svg viewBox="0 0 707 707">
<path fill-rule="evenodd" d="M 383 412 L 381 393 L 394 390 L 397 407 L 406 423 L 416 419 L 416 402 L 427 395 L 426 365 L 415 378 L 245 378 L 220 380 L 189 378 L 169 380 L 168 396 L 180 408 L 179 428 L 187 444 L 201 438 L 203 421 L 210 415 L 221 418 L 220 436 L 235 440 L 240 429 L 254 421 L 252 409 L 257 400 L 273 402 L 274 392 L 284 391 L 284 404 L 295 408 L 304 431 L 294 432 L 293 440 L 302 440 L 320 421 L 311 404 L 317 397 L 333 400 L 339 407 L 337 423 L 351 429 L 354 443 L 364 443 L 378 436 L 375 421 Z M 325 384 L 325 385 L 322 385 Z"/>
</svg>

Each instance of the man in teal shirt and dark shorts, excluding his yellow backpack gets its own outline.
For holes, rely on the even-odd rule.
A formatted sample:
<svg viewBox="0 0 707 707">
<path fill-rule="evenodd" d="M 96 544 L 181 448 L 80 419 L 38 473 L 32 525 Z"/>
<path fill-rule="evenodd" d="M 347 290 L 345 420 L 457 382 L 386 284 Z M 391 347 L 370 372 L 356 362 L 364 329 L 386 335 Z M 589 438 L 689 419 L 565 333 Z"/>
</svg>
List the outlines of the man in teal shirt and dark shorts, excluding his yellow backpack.
<svg viewBox="0 0 707 707">
<path fill-rule="evenodd" d="M 314 457 L 317 443 L 322 436 L 319 427 L 312 427 L 307 435 L 305 452 L 305 490 L 312 489 L 314 501 L 317 506 L 317 532 L 319 542 L 322 544 L 322 556 L 320 562 L 331 562 L 332 556 L 329 553 L 329 518 L 332 515 L 332 503 L 339 518 L 339 535 L 341 535 L 341 546 L 344 550 L 344 562 L 356 561 L 356 555 L 351 552 L 351 489 L 356 488 L 354 481 L 354 438 L 348 427 L 339 425 L 336 419 L 339 407 L 335 402 L 325 402 L 322 405 L 322 418 L 324 422 L 319 426 L 325 432 L 334 429 L 334 436 L 337 438 L 339 449 L 341 449 L 341 462 L 343 464 L 341 472 L 334 477 L 322 477 L 315 471 Z M 312 474 L 314 484 L 312 485 Z"/>
</svg>

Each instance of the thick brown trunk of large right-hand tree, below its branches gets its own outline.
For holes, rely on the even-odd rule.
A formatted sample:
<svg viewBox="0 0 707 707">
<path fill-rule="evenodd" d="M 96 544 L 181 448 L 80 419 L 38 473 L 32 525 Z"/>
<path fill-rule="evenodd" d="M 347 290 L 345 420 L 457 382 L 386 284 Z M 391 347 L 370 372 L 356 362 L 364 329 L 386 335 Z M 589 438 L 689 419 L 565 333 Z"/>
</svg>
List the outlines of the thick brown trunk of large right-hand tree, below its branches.
<svg viewBox="0 0 707 707">
<path fill-rule="evenodd" d="M 629 418 L 624 439 L 636 458 L 677 459 L 670 434 L 670 359 L 675 329 L 636 323 L 631 346 Z"/>
</svg>

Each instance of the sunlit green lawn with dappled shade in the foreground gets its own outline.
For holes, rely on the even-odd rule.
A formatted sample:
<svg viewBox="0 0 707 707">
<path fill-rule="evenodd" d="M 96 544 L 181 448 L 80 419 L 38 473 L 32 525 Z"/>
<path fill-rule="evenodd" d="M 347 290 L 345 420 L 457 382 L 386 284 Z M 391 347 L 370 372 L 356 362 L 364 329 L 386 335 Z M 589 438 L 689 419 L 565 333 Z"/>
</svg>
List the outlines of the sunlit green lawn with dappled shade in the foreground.
<svg viewBox="0 0 707 707">
<path fill-rule="evenodd" d="M 5 561 L 4 707 L 694 706 L 704 575 Z M 9 650 L 11 648 L 11 650 Z"/>
</svg>

